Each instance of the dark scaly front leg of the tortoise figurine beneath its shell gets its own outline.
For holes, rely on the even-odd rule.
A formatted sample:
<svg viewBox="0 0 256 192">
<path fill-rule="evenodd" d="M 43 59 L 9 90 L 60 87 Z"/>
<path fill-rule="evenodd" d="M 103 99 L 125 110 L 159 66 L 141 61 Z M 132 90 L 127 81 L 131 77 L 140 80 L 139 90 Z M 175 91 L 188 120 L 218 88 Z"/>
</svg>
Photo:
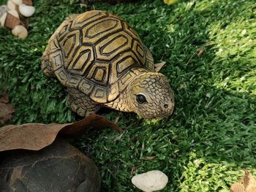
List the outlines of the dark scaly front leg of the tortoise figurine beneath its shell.
<svg viewBox="0 0 256 192">
<path fill-rule="evenodd" d="M 78 113 L 82 117 L 87 117 L 94 114 L 100 109 L 100 105 L 94 101 L 91 101 L 89 96 L 80 92 L 75 88 L 68 88 L 69 92 L 69 105 L 73 112 Z"/>
</svg>

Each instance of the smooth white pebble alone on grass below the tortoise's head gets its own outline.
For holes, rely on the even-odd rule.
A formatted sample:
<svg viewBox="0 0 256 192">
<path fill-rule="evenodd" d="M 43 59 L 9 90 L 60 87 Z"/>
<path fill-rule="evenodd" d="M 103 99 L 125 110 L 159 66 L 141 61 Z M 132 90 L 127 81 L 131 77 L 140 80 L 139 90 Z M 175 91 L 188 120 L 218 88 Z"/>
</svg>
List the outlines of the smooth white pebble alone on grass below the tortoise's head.
<svg viewBox="0 0 256 192">
<path fill-rule="evenodd" d="M 168 177 L 159 170 L 153 170 L 143 174 L 137 174 L 132 177 L 132 184 L 142 191 L 151 192 L 158 191 L 168 183 Z"/>
</svg>

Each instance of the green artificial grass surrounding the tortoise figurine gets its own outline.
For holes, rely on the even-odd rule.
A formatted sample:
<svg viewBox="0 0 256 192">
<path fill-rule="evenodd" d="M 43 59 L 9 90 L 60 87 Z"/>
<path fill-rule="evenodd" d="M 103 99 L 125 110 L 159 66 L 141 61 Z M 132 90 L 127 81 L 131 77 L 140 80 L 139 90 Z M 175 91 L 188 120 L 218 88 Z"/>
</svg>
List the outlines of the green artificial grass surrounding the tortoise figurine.
<svg viewBox="0 0 256 192">
<path fill-rule="evenodd" d="M 5 1 L 0 1 L 4 4 Z M 71 122 L 67 93 L 40 72 L 50 34 L 77 1 L 34 1 L 29 37 L 21 41 L 0 30 L 0 87 L 16 112 L 11 123 Z M 102 191 L 136 191 L 136 174 L 159 169 L 169 177 L 163 191 L 229 191 L 249 169 L 256 175 L 256 3 L 254 0 L 159 1 L 95 4 L 120 15 L 138 31 L 170 80 L 176 110 L 164 120 L 123 113 L 118 125 L 76 142 L 94 159 Z M 42 18 L 41 15 L 44 15 Z M 197 50 L 204 47 L 201 58 Z M 119 112 L 104 115 L 114 120 Z M 91 147 L 88 147 L 91 146 Z M 152 161 L 143 157 L 157 155 Z"/>
</svg>

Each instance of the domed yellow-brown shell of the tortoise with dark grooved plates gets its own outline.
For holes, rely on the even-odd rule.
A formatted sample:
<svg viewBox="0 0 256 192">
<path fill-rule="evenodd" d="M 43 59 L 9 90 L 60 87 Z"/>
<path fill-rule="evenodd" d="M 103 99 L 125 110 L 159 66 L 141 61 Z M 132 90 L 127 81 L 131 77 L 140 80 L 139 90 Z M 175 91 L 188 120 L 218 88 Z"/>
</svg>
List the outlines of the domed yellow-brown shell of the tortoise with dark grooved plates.
<svg viewBox="0 0 256 192">
<path fill-rule="evenodd" d="M 116 99 L 138 75 L 132 69 L 154 71 L 152 55 L 138 34 L 103 11 L 73 15 L 61 23 L 49 40 L 48 55 L 63 85 L 98 103 Z"/>
</svg>

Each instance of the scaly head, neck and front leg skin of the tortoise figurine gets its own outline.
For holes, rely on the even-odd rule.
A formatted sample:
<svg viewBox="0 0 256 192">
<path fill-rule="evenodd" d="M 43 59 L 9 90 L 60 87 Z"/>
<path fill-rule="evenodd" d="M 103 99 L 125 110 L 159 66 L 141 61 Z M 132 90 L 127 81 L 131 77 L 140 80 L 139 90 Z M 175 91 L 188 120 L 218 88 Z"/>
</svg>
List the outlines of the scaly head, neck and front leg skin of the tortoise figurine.
<svg viewBox="0 0 256 192">
<path fill-rule="evenodd" d="M 146 119 L 163 118 L 172 114 L 173 91 L 163 74 L 140 72 L 135 79 L 128 81 L 130 85 L 114 101 L 106 104 L 97 104 L 84 93 L 69 88 L 69 104 L 72 111 L 80 116 L 88 116 L 105 106 L 113 110 L 135 112 Z M 137 101 L 138 94 L 146 96 L 145 103 L 140 104 Z"/>
</svg>

